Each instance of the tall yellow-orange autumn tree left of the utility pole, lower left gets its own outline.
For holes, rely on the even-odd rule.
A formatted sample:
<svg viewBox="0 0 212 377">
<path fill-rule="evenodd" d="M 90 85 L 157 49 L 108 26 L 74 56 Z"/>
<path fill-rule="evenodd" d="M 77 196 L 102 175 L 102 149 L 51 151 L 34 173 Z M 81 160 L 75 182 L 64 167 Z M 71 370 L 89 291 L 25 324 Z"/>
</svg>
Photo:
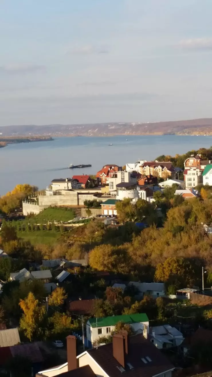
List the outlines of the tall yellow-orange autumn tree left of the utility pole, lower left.
<svg viewBox="0 0 212 377">
<path fill-rule="evenodd" d="M 30 342 L 32 339 L 45 336 L 46 329 L 42 326 L 46 315 L 45 305 L 40 305 L 32 292 L 29 292 L 25 300 L 21 299 L 19 305 L 24 313 L 20 319 L 20 329 Z"/>
</svg>

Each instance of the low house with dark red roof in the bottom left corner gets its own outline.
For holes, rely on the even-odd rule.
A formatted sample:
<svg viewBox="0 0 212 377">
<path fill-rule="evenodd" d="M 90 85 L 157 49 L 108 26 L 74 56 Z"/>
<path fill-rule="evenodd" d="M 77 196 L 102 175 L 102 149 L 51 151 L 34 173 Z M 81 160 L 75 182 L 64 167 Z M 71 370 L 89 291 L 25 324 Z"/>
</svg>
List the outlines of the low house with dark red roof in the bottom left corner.
<svg viewBox="0 0 212 377">
<path fill-rule="evenodd" d="M 32 365 L 32 375 L 40 370 L 43 363 L 43 356 L 37 343 L 19 344 L 10 347 L 0 348 L 0 368 L 8 365 L 13 357 L 26 357 Z"/>
</svg>

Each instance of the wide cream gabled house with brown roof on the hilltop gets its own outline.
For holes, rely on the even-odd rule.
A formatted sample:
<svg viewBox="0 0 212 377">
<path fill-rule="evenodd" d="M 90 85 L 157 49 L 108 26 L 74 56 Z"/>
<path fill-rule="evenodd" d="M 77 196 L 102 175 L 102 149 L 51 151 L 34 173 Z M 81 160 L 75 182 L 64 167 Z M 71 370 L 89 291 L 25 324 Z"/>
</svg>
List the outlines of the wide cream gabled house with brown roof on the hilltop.
<svg viewBox="0 0 212 377">
<path fill-rule="evenodd" d="M 178 167 L 174 167 L 172 162 L 158 162 L 158 161 L 150 161 L 144 162 L 140 166 L 140 173 L 142 175 L 153 175 L 160 178 L 175 178 L 177 172 L 180 172 L 181 169 Z"/>
</svg>

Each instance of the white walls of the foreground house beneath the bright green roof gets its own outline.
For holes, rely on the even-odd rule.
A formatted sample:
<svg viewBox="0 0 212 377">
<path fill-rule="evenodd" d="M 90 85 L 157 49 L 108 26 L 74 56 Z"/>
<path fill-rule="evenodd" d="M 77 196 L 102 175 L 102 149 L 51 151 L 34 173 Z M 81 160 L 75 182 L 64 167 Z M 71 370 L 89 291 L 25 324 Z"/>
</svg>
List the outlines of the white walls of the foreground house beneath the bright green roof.
<svg viewBox="0 0 212 377">
<path fill-rule="evenodd" d="M 144 325 L 146 325 L 147 333 L 149 333 L 149 321 L 147 322 L 137 322 L 130 324 L 135 332 L 138 330 L 143 331 Z M 92 327 L 89 320 L 86 323 L 86 337 L 93 344 L 96 340 L 100 339 L 103 336 L 110 336 L 111 333 L 115 330 L 115 326 L 103 326 L 103 327 Z"/>
</svg>

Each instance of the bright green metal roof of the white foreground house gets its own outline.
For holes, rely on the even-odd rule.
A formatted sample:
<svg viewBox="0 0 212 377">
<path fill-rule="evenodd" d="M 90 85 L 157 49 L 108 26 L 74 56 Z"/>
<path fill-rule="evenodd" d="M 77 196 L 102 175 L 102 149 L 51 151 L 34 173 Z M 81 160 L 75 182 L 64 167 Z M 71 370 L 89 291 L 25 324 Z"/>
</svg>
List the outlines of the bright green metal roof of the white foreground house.
<svg viewBox="0 0 212 377">
<path fill-rule="evenodd" d="M 148 322 L 149 319 L 146 313 L 138 314 L 125 314 L 123 316 L 111 316 L 103 318 L 89 318 L 88 320 L 91 327 L 105 327 L 105 326 L 115 326 L 118 322 L 124 323 L 138 323 L 138 322 Z"/>
</svg>

